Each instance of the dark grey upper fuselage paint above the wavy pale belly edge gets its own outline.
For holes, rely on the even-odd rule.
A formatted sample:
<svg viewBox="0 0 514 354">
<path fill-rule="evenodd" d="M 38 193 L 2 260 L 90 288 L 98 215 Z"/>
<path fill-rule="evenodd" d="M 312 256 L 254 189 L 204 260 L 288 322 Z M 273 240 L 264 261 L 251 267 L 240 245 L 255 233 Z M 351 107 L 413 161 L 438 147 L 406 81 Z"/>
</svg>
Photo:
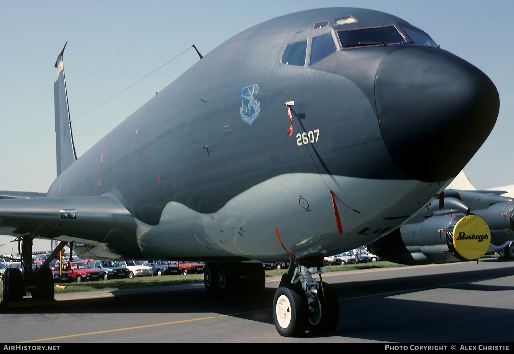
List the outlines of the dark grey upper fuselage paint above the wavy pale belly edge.
<svg viewBox="0 0 514 354">
<path fill-rule="evenodd" d="M 284 102 L 289 100 L 295 100 L 295 119 L 301 116 L 307 131 L 320 129 L 315 148 L 329 172 L 407 179 L 383 145 L 370 90 L 363 94 L 355 84 L 357 78 L 352 81 L 342 76 L 345 72 L 351 76 L 355 68 L 346 67 L 343 61 L 339 68 L 333 67 L 338 74 L 325 72 L 323 65 L 331 66 L 348 54 L 337 51 L 317 63 L 318 69 L 280 63 L 287 44 L 334 27 L 312 31 L 316 21 L 351 13 L 363 19 L 358 24 L 362 27 L 368 20 L 359 16 L 360 12 L 297 13 L 237 34 L 101 139 L 59 177 L 49 195 L 98 195 L 116 187 L 134 217 L 155 225 L 171 200 L 200 213 L 213 213 L 237 194 L 273 176 L 315 173 L 305 147 L 297 146 L 297 125 L 293 123 L 292 136 L 285 134 L 289 122 Z M 394 16 L 383 19 L 382 15 L 372 16 L 369 24 L 397 21 Z M 289 28 L 294 30 L 287 31 Z M 391 50 L 384 49 L 386 53 Z M 240 93 L 253 83 L 260 87 L 261 112 L 249 126 L 239 114 Z M 315 163 L 322 169 L 317 158 Z"/>
</svg>

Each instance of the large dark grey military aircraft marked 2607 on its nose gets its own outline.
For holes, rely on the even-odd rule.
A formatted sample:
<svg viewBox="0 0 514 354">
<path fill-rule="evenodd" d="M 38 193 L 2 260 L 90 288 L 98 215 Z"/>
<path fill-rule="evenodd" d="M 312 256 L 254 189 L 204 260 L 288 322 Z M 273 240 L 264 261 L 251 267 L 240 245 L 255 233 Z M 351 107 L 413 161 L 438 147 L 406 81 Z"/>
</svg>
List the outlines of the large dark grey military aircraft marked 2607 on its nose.
<svg viewBox="0 0 514 354">
<path fill-rule="evenodd" d="M 0 200 L 26 269 L 34 237 L 91 258 L 204 260 L 212 293 L 262 289 L 260 262 L 289 261 L 273 299 L 283 336 L 336 329 L 337 297 L 313 278 L 323 256 L 430 203 L 500 104 L 484 73 L 408 22 L 315 9 L 237 33 L 77 159 L 62 57 L 57 179 Z M 45 267 L 9 272 L 4 300 L 52 298 L 50 281 Z"/>
</svg>

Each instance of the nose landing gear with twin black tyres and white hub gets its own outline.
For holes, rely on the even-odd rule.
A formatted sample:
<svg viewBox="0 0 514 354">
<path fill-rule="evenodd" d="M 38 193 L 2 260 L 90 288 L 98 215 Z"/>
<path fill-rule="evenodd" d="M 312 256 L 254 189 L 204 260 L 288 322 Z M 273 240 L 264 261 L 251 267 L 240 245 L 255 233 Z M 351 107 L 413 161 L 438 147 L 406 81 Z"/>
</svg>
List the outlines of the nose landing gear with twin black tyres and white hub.
<svg viewBox="0 0 514 354">
<path fill-rule="evenodd" d="M 299 337 L 308 330 L 333 333 L 339 324 L 339 302 L 334 289 L 312 275 L 326 272 L 321 260 L 291 262 L 273 297 L 273 322 L 282 337 Z"/>
</svg>

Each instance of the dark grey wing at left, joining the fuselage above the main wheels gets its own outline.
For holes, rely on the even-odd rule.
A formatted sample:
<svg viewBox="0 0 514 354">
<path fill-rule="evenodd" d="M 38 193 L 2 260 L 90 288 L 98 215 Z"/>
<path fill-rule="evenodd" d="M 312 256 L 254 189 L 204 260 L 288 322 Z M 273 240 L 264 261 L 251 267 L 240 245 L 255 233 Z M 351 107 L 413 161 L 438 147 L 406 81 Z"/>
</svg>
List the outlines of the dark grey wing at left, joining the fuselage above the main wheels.
<svg viewBox="0 0 514 354">
<path fill-rule="evenodd" d="M 0 234 L 78 241 L 89 247 L 108 245 L 115 239 L 124 238 L 127 241 L 122 249 L 109 249 L 114 252 L 109 256 L 140 255 L 134 237 L 135 221 L 116 198 L 31 196 L 38 197 L 37 194 L 24 196 L 17 193 L 8 197 L 10 199 L 0 199 Z"/>
</svg>

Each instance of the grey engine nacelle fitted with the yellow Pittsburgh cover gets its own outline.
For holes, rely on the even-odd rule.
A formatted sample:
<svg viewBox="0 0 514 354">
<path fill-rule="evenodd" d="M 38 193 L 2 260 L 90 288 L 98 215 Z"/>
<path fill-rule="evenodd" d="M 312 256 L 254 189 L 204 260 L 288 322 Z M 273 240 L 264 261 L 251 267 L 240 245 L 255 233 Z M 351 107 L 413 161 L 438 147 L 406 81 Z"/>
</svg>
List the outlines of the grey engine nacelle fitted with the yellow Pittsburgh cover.
<svg viewBox="0 0 514 354">
<path fill-rule="evenodd" d="M 368 244 L 368 249 L 397 263 L 446 263 L 478 259 L 487 252 L 490 242 L 491 232 L 484 219 L 453 214 L 403 225 Z"/>
</svg>

